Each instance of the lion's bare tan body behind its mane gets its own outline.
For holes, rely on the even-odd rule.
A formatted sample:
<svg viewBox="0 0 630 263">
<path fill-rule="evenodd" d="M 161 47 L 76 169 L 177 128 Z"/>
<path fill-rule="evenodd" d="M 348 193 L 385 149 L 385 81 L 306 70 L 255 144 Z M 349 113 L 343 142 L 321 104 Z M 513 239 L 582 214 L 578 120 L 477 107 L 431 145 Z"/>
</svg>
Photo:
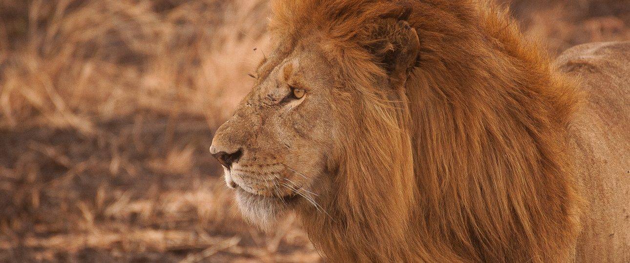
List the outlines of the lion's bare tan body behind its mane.
<svg viewBox="0 0 630 263">
<path fill-rule="evenodd" d="M 630 262 L 630 42 L 590 43 L 558 57 L 587 102 L 571 123 L 588 208 L 578 262 Z"/>
</svg>

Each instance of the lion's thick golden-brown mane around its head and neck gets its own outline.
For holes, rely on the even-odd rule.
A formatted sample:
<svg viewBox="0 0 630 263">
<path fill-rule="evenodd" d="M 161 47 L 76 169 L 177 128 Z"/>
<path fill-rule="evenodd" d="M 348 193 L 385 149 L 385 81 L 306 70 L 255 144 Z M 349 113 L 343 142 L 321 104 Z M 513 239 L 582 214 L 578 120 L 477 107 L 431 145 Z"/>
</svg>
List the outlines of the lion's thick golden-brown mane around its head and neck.
<svg viewBox="0 0 630 263">
<path fill-rule="evenodd" d="M 547 262 L 568 257 L 581 199 L 566 143 L 573 83 L 483 1 L 277 0 L 277 41 L 320 35 L 340 65 L 347 136 L 331 217 L 302 218 L 334 261 Z M 420 39 L 400 89 L 379 82 L 375 21 L 412 10 Z M 386 52 L 386 51 L 383 51 Z M 352 107 L 353 110 L 350 110 Z M 360 114 L 357 114 L 360 113 Z M 335 218 L 334 220 L 332 218 Z"/>
</svg>

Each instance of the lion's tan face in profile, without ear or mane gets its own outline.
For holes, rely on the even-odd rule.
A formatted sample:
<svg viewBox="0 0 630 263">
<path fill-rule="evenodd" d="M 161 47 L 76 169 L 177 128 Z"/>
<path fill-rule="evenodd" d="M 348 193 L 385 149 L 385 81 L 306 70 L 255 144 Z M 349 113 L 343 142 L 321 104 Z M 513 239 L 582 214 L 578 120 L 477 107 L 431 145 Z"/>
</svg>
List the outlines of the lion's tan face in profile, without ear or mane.
<svg viewBox="0 0 630 263">
<path fill-rule="evenodd" d="M 255 87 L 212 141 L 241 211 L 263 227 L 285 210 L 312 206 L 329 181 L 335 81 L 317 50 L 301 45 L 264 60 Z"/>
</svg>

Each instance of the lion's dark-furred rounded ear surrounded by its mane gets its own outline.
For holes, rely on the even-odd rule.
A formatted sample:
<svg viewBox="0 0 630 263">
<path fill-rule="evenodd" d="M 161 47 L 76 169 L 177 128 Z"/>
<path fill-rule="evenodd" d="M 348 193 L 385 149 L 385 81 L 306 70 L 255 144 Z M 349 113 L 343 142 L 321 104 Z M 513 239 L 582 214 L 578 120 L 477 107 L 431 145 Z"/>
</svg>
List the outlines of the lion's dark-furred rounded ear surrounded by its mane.
<svg viewBox="0 0 630 263">
<path fill-rule="evenodd" d="M 420 40 L 408 22 L 411 11 L 400 7 L 381 16 L 370 28 L 365 45 L 393 82 L 404 82 L 418 60 Z"/>
</svg>

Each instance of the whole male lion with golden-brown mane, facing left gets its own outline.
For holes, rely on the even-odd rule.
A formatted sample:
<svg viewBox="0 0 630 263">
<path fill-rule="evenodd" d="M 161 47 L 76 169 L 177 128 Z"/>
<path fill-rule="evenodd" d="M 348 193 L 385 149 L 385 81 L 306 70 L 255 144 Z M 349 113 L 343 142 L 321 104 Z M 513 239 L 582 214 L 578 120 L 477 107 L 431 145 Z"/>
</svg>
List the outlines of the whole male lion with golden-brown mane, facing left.
<svg viewBox="0 0 630 263">
<path fill-rule="evenodd" d="M 272 6 L 210 148 L 246 218 L 341 262 L 630 261 L 630 44 L 563 55 L 580 80 L 482 1 Z"/>
</svg>

